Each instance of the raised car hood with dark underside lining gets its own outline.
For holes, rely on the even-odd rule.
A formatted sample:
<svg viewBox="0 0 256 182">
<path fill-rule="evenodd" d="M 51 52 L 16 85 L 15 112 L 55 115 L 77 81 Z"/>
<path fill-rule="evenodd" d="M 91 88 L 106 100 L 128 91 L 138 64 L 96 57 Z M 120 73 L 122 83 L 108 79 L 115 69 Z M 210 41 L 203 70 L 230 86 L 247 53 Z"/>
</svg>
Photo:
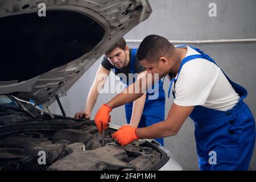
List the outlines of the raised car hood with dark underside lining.
<svg viewBox="0 0 256 182">
<path fill-rule="evenodd" d="M 0 94 L 51 105 L 151 12 L 147 0 L 1 0 Z"/>
</svg>

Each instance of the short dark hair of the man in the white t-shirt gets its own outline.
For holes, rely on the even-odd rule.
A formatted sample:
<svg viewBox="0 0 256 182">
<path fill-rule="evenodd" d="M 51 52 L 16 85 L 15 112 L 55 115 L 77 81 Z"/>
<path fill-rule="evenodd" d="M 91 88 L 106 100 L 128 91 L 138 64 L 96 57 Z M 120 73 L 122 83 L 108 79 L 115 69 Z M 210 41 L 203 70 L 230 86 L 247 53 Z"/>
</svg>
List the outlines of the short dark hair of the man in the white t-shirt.
<svg viewBox="0 0 256 182">
<path fill-rule="evenodd" d="M 157 61 L 160 56 L 172 56 L 174 48 L 174 45 L 163 36 L 148 35 L 139 45 L 137 58 L 139 61 Z"/>
</svg>

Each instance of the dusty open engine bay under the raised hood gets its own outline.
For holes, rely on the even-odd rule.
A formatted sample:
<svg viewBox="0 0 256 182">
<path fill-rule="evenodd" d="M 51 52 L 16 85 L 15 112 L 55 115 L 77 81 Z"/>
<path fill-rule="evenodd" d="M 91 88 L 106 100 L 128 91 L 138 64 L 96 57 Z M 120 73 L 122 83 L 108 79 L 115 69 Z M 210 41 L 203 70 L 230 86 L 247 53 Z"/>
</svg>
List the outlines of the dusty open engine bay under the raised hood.
<svg viewBox="0 0 256 182">
<path fill-rule="evenodd" d="M 0 125 L 0 170 L 151 170 L 168 158 L 152 142 L 122 147 L 88 119 L 39 119 Z"/>
</svg>

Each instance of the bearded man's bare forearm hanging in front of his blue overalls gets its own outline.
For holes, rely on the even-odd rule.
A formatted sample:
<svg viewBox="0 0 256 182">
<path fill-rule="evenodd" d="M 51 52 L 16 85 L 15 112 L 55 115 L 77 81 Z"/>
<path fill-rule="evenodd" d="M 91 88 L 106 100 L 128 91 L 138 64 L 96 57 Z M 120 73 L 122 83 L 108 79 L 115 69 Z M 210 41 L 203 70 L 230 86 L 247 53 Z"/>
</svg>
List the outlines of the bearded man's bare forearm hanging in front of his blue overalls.
<svg viewBox="0 0 256 182">
<path fill-rule="evenodd" d="M 146 94 L 143 94 L 140 98 L 133 102 L 133 114 L 131 114 L 130 125 L 138 127 L 139 121 L 141 121 L 141 115 L 143 113 L 144 104 L 146 101 Z"/>
</svg>

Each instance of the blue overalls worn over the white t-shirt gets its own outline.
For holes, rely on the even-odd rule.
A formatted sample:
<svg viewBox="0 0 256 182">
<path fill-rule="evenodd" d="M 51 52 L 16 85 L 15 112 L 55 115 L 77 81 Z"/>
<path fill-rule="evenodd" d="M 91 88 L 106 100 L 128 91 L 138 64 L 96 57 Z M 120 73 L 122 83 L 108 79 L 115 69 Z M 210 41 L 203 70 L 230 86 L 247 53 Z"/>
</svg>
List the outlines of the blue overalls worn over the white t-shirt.
<svg viewBox="0 0 256 182">
<path fill-rule="evenodd" d="M 187 46 L 178 46 L 177 48 L 179 47 Z M 191 48 L 199 52 L 200 55 L 185 57 L 181 61 L 177 78 L 181 68 L 188 61 L 201 58 L 216 64 L 200 49 Z M 172 83 L 176 82 L 177 78 L 172 78 L 168 97 L 170 96 Z M 240 96 L 236 106 L 227 111 L 195 106 L 195 109 L 189 115 L 195 123 L 196 148 L 201 170 L 247 170 L 253 154 L 255 121 L 249 107 L 243 102 L 243 99 L 247 96 L 247 91 L 231 81 L 228 76 L 226 78 Z M 175 98 L 175 93 L 172 92 L 172 94 Z M 216 156 L 215 162 L 212 160 L 214 155 L 212 151 L 216 152 L 214 153 Z"/>
</svg>

